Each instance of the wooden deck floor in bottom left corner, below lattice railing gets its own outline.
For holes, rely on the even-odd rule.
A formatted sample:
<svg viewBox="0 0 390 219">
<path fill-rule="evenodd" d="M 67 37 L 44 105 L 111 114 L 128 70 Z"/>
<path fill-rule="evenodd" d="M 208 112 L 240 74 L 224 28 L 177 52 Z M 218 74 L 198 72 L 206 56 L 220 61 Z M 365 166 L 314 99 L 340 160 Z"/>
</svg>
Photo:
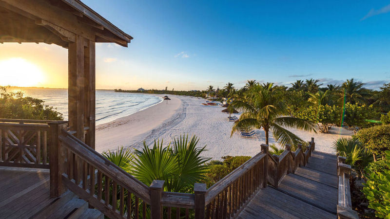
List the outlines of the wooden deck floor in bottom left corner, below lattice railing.
<svg viewBox="0 0 390 219">
<path fill-rule="evenodd" d="M 30 218 L 55 201 L 49 170 L 0 167 L 0 218 Z"/>
</svg>

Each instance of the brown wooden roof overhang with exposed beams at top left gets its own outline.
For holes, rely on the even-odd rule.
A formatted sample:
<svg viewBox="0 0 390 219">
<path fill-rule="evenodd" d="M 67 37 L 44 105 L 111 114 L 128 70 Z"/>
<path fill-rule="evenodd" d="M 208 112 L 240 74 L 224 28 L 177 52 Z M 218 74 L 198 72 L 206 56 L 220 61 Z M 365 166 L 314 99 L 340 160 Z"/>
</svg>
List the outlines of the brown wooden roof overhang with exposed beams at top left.
<svg viewBox="0 0 390 219">
<path fill-rule="evenodd" d="M 124 47 L 133 39 L 80 0 L 0 0 L 0 43 L 43 42 L 68 48 L 76 36 Z"/>
</svg>

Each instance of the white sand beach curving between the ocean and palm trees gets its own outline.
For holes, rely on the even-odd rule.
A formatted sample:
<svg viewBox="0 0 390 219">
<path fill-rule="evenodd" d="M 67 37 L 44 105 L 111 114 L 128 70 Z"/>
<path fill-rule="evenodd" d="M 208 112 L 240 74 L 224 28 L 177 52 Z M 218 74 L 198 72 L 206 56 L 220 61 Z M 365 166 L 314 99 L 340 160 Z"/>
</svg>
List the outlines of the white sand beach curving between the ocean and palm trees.
<svg viewBox="0 0 390 219">
<path fill-rule="evenodd" d="M 157 95 L 164 96 L 164 95 Z M 116 149 L 118 146 L 140 148 L 142 142 L 151 146 L 154 139 L 163 139 L 164 146 L 174 137 L 188 133 L 199 137 L 198 146 L 206 146 L 202 155 L 221 160 L 226 155 L 254 156 L 265 143 L 262 129 L 256 130 L 253 139 L 246 139 L 238 133 L 231 135 L 232 122 L 229 114 L 221 112 L 224 108 L 204 106 L 204 99 L 189 96 L 169 95 L 171 100 L 119 118 L 113 122 L 97 126 L 96 150 L 98 152 Z M 238 116 L 238 115 L 237 115 Z M 290 129 L 305 141 L 314 137 L 315 149 L 326 153 L 335 153 L 332 142 L 339 137 L 351 136 L 352 131 L 333 127 L 330 132 L 313 133 Z M 274 143 L 270 134 L 270 144 Z"/>
</svg>

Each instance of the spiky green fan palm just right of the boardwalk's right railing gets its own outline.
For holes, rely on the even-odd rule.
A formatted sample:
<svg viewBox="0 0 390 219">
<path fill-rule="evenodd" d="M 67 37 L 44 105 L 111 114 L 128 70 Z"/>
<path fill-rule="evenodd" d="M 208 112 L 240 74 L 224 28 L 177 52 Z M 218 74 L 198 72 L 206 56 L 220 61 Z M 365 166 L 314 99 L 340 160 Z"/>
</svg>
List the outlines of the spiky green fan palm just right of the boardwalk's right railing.
<svg viewBox="0 0 390 219">
<path fill-rule="evenodd" d="M 342 137 L 334 141 L 332 147 L 337 155 L 347 158 L 346 164 L 351 165 L 360 176 L 364 176 L 364 170 L 373 158 L 370 151 L 358 139 Z"/>
</svg>

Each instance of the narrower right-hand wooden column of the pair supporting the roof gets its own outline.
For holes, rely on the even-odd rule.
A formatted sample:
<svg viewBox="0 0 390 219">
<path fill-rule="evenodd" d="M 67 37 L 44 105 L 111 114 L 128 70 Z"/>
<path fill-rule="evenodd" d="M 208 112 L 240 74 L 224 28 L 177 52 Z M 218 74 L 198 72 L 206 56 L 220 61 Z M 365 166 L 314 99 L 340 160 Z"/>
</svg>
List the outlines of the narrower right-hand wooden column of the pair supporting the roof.
<svg viewBox="0 0 390 219">
<path fill-rule="evenodd" d="M 84 49 L 84 124 L 88 127 L 85 143 L 95 149 L 95 42 L 87 40 Z"/>
</svg>

